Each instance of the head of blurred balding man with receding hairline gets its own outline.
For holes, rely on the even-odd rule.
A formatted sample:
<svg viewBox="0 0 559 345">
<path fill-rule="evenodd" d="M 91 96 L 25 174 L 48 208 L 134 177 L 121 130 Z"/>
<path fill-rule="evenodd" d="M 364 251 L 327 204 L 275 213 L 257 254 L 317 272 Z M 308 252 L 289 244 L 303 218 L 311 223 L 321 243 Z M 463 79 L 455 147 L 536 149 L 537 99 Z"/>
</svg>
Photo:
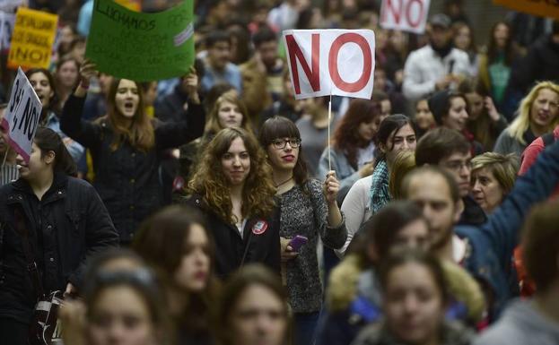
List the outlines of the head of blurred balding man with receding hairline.
<svg viewBox="0 0 559 345">
<path fill-rule="evenodd" d="M 435 166 L 416 168 L 404 179 L 402 193 L 406 200 L 417 204 L 429 220 L 432 249 L 445 246 L 462 212 L 459 188 L 454 177 Z"/>
</svg>

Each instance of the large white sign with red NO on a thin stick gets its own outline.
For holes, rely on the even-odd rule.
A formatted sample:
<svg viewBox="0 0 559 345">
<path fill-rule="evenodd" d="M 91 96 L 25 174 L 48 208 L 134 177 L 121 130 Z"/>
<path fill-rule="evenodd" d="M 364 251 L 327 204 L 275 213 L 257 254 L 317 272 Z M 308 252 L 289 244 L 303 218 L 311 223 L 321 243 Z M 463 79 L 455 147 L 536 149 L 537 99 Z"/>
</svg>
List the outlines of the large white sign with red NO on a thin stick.
<svg viewBox="0 0 559 345">
<path fill-rule="evenodd" d="M 372 30 L 284 30 L 295 99 L 338 95 L 371 99 Z"/>
</svg>

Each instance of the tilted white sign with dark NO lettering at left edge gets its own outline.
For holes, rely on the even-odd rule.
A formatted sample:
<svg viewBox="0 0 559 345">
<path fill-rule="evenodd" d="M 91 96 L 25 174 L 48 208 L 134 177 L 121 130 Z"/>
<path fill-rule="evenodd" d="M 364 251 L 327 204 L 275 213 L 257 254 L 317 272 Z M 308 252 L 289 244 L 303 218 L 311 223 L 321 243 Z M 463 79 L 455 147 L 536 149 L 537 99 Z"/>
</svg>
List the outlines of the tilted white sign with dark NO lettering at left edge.
<svg viewBox="0 0 559 345">
<path fill-rule="evenodd" d="M 26 162 L 29 162 L 31 143 L 39 124 L 41 110 L 39 97 L 25 73 L 18 68 L 2 126 L 7 129 L 8 142 L 13 150 L 22 155 Z"/>
</svg>

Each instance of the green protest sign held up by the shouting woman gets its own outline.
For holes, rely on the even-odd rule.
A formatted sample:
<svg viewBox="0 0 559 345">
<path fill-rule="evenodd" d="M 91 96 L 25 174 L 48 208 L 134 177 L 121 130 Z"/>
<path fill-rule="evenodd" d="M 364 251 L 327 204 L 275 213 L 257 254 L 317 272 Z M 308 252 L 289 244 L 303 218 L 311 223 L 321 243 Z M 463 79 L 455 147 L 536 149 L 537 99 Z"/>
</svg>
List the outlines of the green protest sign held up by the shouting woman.
<svg viewBox="0 0 559 345">
<path fill-rule="evenodd" d="M 161 13 L 138 13 L 95 0 L 85 56 L 103 73 L 137 82 L 188 73 L 194 64 L 193 0 Z"/>
</svg>

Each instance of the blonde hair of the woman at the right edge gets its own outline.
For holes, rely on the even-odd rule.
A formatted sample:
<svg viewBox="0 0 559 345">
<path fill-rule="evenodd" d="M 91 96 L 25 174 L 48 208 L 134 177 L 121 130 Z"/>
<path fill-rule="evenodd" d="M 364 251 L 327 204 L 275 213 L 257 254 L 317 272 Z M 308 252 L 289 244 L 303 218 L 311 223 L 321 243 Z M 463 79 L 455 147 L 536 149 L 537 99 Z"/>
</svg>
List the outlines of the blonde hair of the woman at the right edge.
<svg viewBox="0 0 559 345">
<path fill-rule="evenodd" d="M 559 85 L 555 84 L 555 82 L 538 82 L 537 85 L 530 90 L 528 95 L 522 99 L 518 115 L 507 128 L 508 134 L 522 144 L 527 143 L 523 136 L 530 126 L 530 109 L 532 108 L 532 104 L 536 100 L 539 91 L 544 89 L 554 91 L 557 95 L 559 95 Z M 549 131 L 551 131 L 557 124 L 559 124 L 559 116 L 555 116 L 553 122 L 549 124 Z"/>
</svg>

